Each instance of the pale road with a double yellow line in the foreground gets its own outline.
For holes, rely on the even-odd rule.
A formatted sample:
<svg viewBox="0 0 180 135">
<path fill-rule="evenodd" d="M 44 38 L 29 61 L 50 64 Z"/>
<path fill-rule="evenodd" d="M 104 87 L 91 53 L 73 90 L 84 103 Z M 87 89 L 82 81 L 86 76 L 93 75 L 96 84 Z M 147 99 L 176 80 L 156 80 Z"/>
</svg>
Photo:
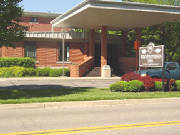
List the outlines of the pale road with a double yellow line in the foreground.
<svg viewBox="0 0 180 135">
<path fill-rule="evenodd" d="M 0 135 L 179 135 L 179 101 L 0 109 Z"/>
</svg>

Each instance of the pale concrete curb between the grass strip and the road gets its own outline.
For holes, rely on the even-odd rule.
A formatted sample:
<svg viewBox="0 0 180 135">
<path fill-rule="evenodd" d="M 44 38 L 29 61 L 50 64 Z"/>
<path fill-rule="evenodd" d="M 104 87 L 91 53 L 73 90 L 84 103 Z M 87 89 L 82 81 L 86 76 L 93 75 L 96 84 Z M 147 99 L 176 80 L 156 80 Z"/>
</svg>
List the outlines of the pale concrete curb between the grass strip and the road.
<svg viewBox="0 0 180 135">
<path fill-rule="evenodd" d="M 99 100 L 99 101 L 74 101 L 74 102 L 46 102 L 30 104 L 6 104 L 0 105 L 0 110 L 16 109 L 46 109 L 46 108 L 71 108 L 71 107 L 95 107 L 114 105 L 134 105 L 147 103 L 179 102 L 180 98 L 159 98 L 159 99 L 126 99 L 126 100 Z"/>
</svg>

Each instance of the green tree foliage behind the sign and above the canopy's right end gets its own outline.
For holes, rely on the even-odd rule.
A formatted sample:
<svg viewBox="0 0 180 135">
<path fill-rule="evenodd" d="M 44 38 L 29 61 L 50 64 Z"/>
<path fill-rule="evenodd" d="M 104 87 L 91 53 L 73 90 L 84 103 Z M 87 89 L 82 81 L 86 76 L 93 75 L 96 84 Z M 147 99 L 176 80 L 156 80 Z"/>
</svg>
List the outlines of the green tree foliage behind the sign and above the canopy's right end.
<svg viewBox="0 0 180 135">
<path fill-rule="evenodd" d="M 143 2 L 151 4 L 179 5 L 179 0 L 123 0 L 130 2 Z M 129 32 L 129 40 L 135 40 L 135 31 Z M 167 22 L 142 30 L 142 45 L 146 46 L 149 42 L 156 45 L 165 45 L 166 61 L 180 61 L 180 23 Z"/>
</svg>

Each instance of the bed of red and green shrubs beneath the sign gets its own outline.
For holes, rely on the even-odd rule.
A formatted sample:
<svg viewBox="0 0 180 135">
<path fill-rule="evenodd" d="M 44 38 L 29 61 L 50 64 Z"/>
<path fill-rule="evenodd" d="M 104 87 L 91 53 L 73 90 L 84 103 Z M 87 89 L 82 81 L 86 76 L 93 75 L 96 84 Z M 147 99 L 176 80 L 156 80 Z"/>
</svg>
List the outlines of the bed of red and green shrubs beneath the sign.
<svg viewBox="0 0 180 135">
<path fill-rule="evenodd" d="M 132 83 L 135 81 L 135 83 Z M 139 88 L 139 84 L 142 86 Z M 165 79 L 166 90 L 180 90 L 180 80 Z M 160 91 L 163 89 L 162 79 L 151 78 L 150 76 L 140 76 L 137 73 L 130 72 L 122 76 L 121 81 L 110 85 L 111 91 Z"/>
</svg>

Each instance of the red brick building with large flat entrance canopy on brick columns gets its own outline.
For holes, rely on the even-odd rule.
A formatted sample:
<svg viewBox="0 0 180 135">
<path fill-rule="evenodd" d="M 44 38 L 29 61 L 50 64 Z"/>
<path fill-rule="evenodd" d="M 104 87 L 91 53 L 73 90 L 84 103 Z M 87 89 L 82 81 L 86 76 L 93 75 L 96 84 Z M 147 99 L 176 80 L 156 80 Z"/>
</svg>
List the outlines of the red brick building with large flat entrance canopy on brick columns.
<svg viewBox="0 0 180 135">
<path fill-rule="evenodd" d="M 15 43 L 16 48 L 1 47 L 0 56 L 33 57 L 37 67 L 65 65 L 72 77 L 84 76 L 92 69 L 100 76 L 104 65 L 110 65 L 117 74 L 134 71 L 136 60 L 126 55 L 128 30 L 136 30 L 140 46 L 141 28 L 177 20 L 179 10 L 171 6 L 85 0 L 63 15 L 25 12 L 22 25 L 29 27 L 26 39 Z M 108 34 L 107 30 L 121 30 L 122 34 Z"/>
</svg>

